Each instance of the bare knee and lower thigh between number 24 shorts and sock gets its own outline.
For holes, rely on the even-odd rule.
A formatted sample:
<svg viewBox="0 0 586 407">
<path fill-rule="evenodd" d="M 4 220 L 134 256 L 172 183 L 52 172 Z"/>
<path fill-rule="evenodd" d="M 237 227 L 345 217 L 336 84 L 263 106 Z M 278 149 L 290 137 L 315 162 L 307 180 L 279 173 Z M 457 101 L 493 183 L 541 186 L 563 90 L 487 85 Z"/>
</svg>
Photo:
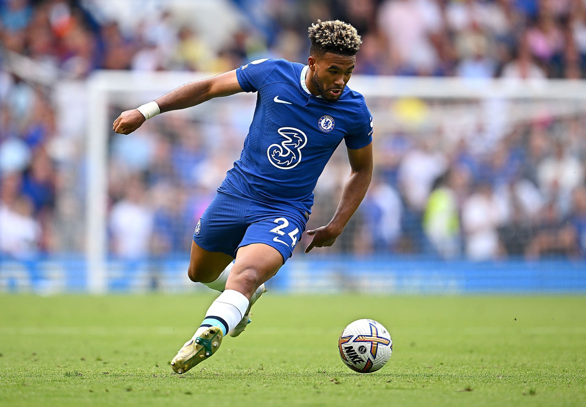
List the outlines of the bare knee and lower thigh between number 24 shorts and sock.
<svg viewBox="0 0 586 407">
<path fill-rule="evenodd" d="M 227 290 L 236 290 L 250 299 L 254 291 L 283 265 L 281 252 L 265 243 L 241 246 L 226 281 Z"/>
</svg>

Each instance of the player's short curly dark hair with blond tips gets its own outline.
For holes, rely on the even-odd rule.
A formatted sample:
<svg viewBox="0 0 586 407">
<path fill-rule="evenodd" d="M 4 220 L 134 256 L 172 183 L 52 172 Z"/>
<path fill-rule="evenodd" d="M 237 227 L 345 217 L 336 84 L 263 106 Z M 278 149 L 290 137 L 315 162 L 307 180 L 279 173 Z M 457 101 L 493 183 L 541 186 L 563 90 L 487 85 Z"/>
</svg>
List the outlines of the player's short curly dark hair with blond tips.
<svg viewBox="0 0 586 407">
<path fill-rule="evenodd" d="M 332 52 L 344 56 L 356 55 L 362 44 L 356 28 L 340 20 L 321 21 L 313 23 L 308 28 L 313 56 L 321 56 Z"/>
</svg>

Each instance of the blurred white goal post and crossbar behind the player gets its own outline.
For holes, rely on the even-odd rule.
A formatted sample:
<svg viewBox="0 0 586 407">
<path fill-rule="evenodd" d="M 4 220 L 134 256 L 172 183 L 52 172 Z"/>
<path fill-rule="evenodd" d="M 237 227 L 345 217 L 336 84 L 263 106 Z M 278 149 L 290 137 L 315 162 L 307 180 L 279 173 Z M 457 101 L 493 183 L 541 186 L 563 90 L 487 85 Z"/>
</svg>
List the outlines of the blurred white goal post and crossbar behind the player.
<svg viewBox="0 0 586 407">
<path fill-rule="evenodd" d="M 107 291 L 107 140 L 110 93 L 148 91 L 162 95 L 176 87 L 213 76 L 206 73 L 96 71 L 87 80 L 87 289 Z M 465 80 L 459 78 L 353 76 L 352 89 L 369 97 L 418 97 L 424 99 L 559 99 L 586 100 L 582 80 Z M 155 96 L 156 97 L 156 96 Z M 234 96 L 233 96 L 234 97 Z M 237 96 L 236 96 L 237 97 Z M 147 100 L 144 101 L 146 103 Z M 557 114 L 575 114 L 563 106 Z M 586 111 L 585 111 L 586 113 Z M 377 117 L 374 115 L 374 123 Z"/>
</svg>

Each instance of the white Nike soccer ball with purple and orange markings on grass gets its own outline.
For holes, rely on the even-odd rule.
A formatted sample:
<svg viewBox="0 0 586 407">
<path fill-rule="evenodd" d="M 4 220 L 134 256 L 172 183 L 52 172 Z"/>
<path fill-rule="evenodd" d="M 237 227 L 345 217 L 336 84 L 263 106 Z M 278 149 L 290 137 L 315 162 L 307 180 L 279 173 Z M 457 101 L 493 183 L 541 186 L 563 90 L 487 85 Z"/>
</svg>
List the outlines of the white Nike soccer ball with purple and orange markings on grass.
<svg viewBox="0 0 586 407">
<path fill-rule="evenodd" d="M 370 373 L 383 367 L 393 353 L 393 340 L 383 325 L 357 320 L 348 325 L 338 340 L 340 358 L 355 372 Z"/>
</svg>

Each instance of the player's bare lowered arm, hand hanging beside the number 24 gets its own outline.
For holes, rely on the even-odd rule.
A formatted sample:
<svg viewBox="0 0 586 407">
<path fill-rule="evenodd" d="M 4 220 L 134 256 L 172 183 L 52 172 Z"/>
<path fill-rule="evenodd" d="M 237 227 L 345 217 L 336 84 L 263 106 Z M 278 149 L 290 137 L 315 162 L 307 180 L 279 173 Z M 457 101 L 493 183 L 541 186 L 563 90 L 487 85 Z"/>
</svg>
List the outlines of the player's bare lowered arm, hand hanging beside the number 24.
<svg viewBox="0 0 586 407">
<path fill-rule="evenodd" d="M 332 246 L 366 195 L 372 178 L 372 143 L 357 150 L 348 148 L 347 151 L 351 171 L 344 185 L 338 209 L 328 225 L 306 232 L 314 238 L 305 249 L 305 253 L 309 253 L 314 247 Z"/>
</svg>

